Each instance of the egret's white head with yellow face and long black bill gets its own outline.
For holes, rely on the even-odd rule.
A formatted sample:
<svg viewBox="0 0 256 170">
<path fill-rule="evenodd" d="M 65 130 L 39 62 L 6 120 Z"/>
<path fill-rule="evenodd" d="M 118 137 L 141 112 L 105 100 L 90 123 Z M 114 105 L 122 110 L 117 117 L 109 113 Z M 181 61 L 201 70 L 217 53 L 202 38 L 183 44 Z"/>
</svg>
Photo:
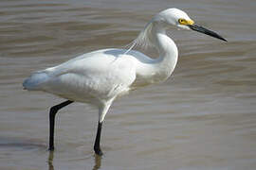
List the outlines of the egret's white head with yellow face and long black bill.
<svg viewBox="0 0 256 170">
<path fill-rule="evenodd" d="M 168 8 L 159 12 L 153 18 L 153 22 L 161 26 L 177 26 L 181 29 L 194 30 L 227 42 L 226 39 L 217 33 L 203 26 L 196 25 L 186 12 L 178 8 Z"/>
</svg>

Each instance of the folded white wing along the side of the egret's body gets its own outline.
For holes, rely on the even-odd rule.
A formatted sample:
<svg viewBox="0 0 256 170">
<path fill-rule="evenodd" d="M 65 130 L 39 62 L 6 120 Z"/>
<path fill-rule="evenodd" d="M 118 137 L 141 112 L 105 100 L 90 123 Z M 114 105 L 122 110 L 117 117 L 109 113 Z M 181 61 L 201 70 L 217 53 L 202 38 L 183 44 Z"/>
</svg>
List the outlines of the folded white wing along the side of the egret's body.
<svg viewBox="0 0 256 170">
<path fill-rule="evenodd" d="M 43 91 L 65 98 L 82 100 L 85 95 L 111 98 L 129 91 L 136 79 L 134 60 L 115 56 L 113 52 L 96 51 L 68 60 L 41 72 L 48 79 Z M 74 98 L 74 97 L 81 98 Z"/>
</svg>

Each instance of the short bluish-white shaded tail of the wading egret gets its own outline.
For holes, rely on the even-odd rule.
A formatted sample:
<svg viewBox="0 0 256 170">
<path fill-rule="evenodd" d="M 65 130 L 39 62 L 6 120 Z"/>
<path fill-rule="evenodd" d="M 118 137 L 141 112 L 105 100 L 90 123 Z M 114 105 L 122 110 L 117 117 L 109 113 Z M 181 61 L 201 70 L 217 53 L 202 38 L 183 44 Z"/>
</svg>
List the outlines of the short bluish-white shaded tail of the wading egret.
<svg viewBox="0 0 256 170">
<path fill-rule="evenodd" d="M 49 79 L 49 76 L 46 72 L 36 72 L 23 82 L 23 87 L 28 91 L 37 91 L 41 90 L 42 84 L 44 84 Z"/>
</svg>

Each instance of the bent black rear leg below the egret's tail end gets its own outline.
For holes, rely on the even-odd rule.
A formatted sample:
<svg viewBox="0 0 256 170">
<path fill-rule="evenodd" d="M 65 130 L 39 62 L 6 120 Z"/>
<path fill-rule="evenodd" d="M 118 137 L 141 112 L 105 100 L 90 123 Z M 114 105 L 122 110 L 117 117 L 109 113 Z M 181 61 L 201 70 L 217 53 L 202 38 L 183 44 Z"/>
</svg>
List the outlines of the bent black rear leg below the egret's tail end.
<svg viewBox="0 0 256 170">
<path fill-rule="evenodd" d="M 65 106 L 73 103 L 74 101 L 67 100 L 59 105 L 53 106 L 49 111 L 49 150 L 54 150 L 54 122 L 55 115 L 58 110 L 61 110 Z"/>
</svg>

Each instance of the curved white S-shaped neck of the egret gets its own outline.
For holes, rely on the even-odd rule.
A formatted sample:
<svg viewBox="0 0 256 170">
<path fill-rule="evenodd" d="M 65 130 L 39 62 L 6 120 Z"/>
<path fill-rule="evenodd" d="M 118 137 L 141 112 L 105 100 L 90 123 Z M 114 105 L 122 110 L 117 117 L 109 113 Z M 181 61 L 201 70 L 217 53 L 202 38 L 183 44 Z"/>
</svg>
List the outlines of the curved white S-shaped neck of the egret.
<svg viewBox="0 0 256 170">
<path fill-rule="evenodd" d="M 155 46 L 159 57 L 151 63 L 144 63 L 139 67 L 142 78 L 149 79 L 148 83 L 155 83 L 166 80 L 174 72 L 177 62 L 178 51 L 172 39 L 166 35 L 164 26 L 151 23 L 150 29 L 146 30 L 147 39 Z"/>
</svg>

